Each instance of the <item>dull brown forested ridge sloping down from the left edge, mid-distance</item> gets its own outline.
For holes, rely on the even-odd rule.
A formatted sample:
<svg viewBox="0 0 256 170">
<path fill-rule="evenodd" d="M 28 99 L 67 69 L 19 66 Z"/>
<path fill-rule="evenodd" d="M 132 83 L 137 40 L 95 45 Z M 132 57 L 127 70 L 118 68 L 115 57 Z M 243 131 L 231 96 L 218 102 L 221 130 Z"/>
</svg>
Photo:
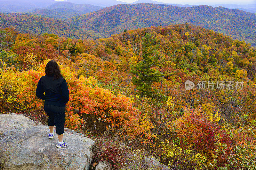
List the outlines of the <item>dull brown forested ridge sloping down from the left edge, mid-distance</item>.
<svg viewBox="0 0 256 170">
<path fill-rule="evenodd" d="M 42 35 L 43 33 L 54 33 L 69 38 L 95 39 L 100 37 L 99 33 L 80 29 L 60 19 L 44 18 L 21 13 L 0 13 L 0 27 L 13 27 L 20 32 L 30 34 Z"/>
</svg>

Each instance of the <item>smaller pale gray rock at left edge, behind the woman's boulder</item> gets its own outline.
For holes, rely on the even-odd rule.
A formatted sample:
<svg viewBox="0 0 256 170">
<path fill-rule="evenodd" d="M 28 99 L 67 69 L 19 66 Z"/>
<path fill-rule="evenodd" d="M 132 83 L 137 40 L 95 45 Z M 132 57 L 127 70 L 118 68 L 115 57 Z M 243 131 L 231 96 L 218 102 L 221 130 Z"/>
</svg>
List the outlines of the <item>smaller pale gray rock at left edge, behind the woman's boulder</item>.
<svg viewBox="0 0 256 170">
<path fill-rule="evenodd" d="M 21 114 L 0 114 L 0 135 L 12 129 L 19 129 L 30 125 L 42 125 Z"/>
</svg>

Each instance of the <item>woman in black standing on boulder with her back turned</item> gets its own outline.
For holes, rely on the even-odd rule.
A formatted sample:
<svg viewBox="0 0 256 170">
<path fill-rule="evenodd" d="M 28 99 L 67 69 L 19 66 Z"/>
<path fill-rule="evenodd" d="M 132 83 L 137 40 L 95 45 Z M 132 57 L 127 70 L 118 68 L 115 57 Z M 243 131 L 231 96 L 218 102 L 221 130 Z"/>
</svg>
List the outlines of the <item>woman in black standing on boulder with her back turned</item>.
<svg viewBox="0 0 256 170">
<path fill-rule="evenodd" d="M 69 101 L 69 91 L 66 80 L 60 74 L 59 65 L 51 60 L 46 64 L 45 75 L 40 78 L 36 88 L 36 96 L 44 100 L 44 111 L 47 113 L 49 138 L 53 139 L 54 124 L 59 142 L 58 148 L 67 147 L 63 142 L 66 104 Z"/>
</svg>

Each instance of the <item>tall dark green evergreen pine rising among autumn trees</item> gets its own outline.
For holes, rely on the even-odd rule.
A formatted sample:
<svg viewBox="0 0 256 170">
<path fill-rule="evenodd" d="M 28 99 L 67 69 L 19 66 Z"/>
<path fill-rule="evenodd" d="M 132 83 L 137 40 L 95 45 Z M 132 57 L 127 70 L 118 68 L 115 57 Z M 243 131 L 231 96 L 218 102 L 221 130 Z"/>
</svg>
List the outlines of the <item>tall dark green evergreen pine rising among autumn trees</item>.
<svg viewBox="0 0 256 170">
<path fill-rule="evenodd" d="M 132 82 L 139 90 L 141 98 L 156 93 L 156 90 L 152 90 L 152 84 L 161 80 L 160 71 L 152 69 L 159 59 L 159 53 L 156 51 L 158 46 L 156 39 L 146 33 L 142 41 L 142 58 L 131 70 L 135 75 Z"/>
</svg>

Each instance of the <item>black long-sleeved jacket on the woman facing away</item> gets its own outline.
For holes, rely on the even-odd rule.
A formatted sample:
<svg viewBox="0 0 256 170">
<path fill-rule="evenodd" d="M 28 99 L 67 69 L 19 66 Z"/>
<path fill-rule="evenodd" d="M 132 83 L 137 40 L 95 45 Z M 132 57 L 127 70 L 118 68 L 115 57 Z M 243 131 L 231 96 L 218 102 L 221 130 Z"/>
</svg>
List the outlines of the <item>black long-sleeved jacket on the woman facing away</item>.
<svg viewBox="0 0 256 170">
<path fill-rule="evenodd" d="M 44 100 L 44 104 L 66 107 L 69 101 L 67 81 L 64 77 L 53 80 L 53 76 L 42 76 L 37 84 L 36 96 Z"/>
</svg>

